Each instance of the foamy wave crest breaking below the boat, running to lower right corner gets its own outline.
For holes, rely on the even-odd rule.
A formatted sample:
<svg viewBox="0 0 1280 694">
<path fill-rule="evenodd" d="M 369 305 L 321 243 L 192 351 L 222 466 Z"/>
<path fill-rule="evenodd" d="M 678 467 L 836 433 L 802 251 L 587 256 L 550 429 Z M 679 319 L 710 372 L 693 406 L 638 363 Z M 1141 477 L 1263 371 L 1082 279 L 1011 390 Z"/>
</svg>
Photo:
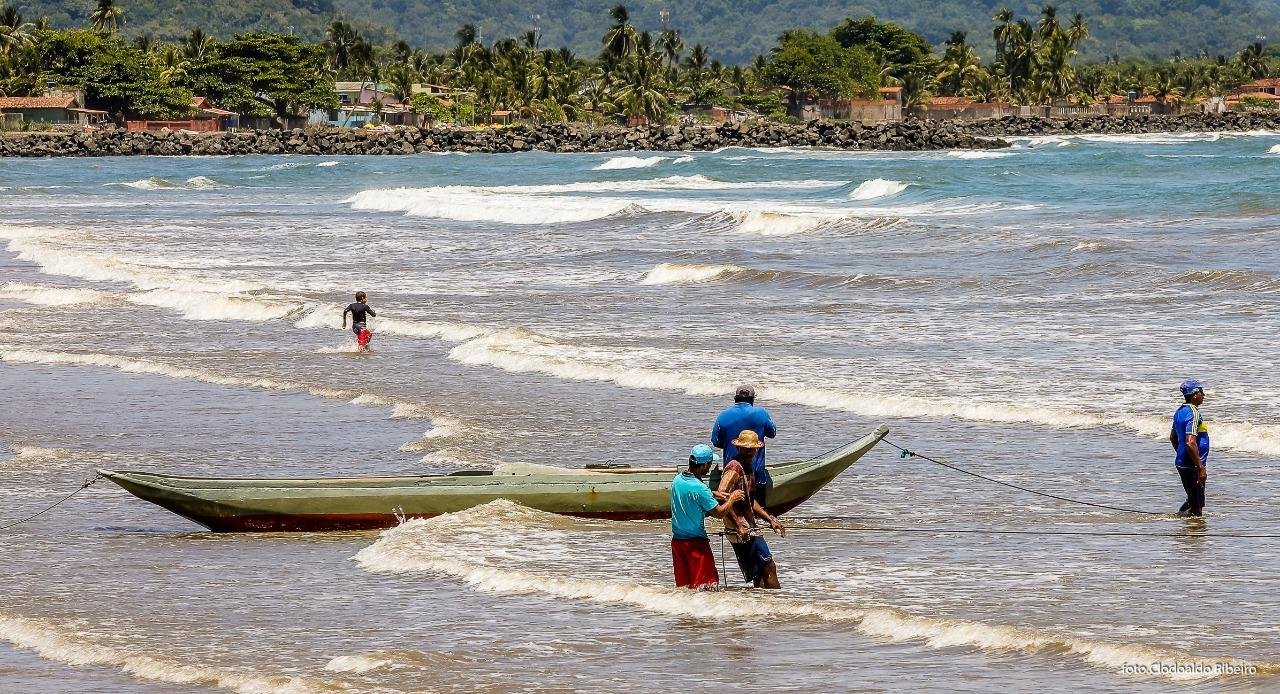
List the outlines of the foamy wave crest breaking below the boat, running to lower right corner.
<svg viewBox="0 0 1280 694">
<path fill-rule="evenodd" d="M 621 604 L 677 617 L 701 620 L 809 620 L 846 626 L 864 635 L 893 642 L 922 642 L 932 648 L 964 647 L 1028 654 L 1069 653 L 1089 665 L 1117 670 L 1130 663 L 1256 666 L 1258 674 L 1280 672 L 1280 663 L 1251 663 L 1236 658 L 1199 657 L 1148 644 L 1106 642 L 1037 627 L 992 625 L 977 621 L 923 617 L 893 608 L 861 608 L 837 599 L 817 601 L 787 595 L 696 592 L 635 580 L 603 580 L 572 574 L 518 570 L 509 552 L 490 557 L 474 544 L 454 542 L 502 524 L 507 529 L 532 526 L 553 530 L 567 522 L 508 501 L 497 501 L 458 513 L 411 520 L 384 531 L 360 551 L 355 561 L 374 572 L 426 572 L 454 577 L 475 590 L 596 604 Z M 568 521 L 571 522 L 571 521 Z M 497 561 L 497 560 L 506 561 Z M 1175 680 L 1203 680 L 1212 675 L 1170 674 Z"/>
</svg>

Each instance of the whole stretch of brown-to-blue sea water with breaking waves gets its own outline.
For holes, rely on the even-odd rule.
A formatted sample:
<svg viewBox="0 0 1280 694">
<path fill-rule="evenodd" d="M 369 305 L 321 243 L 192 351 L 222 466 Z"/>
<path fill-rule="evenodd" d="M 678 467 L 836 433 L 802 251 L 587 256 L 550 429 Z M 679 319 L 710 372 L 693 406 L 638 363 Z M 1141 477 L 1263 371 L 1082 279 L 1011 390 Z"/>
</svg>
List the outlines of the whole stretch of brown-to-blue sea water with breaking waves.
<svg viewBox="0 0 1280 694">
<path fill-rule="evenodd" d="M 777 594 L 668 588 L 664 522 L 221 535 L 102 481 L 0 531 L 0 689 L 1275 691 L 1276 151 L 0 160 L 0 524 L 95 467 L 675 470 L 740 382 L 773 461 L 887 424 L 1151 511 L 1184 378 L 1213 440 L 1202 522 L 877 447 Z"/>
</svg>

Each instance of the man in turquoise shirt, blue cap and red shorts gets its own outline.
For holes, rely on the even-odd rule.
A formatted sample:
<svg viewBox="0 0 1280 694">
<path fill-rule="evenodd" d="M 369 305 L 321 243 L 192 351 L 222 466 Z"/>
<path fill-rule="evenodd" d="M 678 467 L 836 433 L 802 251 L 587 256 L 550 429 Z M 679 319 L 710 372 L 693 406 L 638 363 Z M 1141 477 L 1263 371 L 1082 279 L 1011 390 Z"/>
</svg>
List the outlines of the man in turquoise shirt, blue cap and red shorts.
<svg viewBox="0 0 1280 694">
<path fill-rule="evenodd" d="M 703 519 L 708 515 L 724 517 L 730 506 L 742 501 L 744 496 L 735 490 L 722 503 L 716 503 L 712 490 L 703 483 L 703 475 L 710 470 L 716 457 L 710 446 L 694 446 L 689 452 L 689 470 L 671 480 L 671 561 L 676 567 L 677 588 L 719 584 L 716 556 Z"/>
</svg>

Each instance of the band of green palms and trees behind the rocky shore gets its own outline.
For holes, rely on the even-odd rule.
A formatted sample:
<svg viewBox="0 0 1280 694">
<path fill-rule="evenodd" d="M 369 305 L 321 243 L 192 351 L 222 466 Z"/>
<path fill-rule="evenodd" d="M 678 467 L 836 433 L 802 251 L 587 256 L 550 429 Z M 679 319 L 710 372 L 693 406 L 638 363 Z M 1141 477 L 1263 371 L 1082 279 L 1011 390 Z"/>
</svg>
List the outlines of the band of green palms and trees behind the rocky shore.
<svg viewBox="0 0 1280 694">
<path fill-rule="evenodd" d="M 461 27 L 452 49 L 425 51 L 401 40 L 378 45 L 349 22 L 334 19 L 323 41 L 291 33 L 252 32 L 218 40 L 196 28 L 180 41 L 122 37 L 124 9 L 96 0 L 83 28 L 54 29 L 0 6 L 0 96 L 42 93 L 49 85 L 83 91 L 86 106 L 115 119 L 191 115 L 193 95 L 246 117 L 305 115 L 338 108 L 334 81 L 385 86 L 385 97 L 429 120 L 470 120 L 507 110 L 517 118 L 557 122 L 669 120 L 680 113 L 723 106 L 786 117 L 783 95 L 878 99 L 901 88 L 904 106 L 931 96 L 1019 105 L 1088 105 L 1116 92 L 1160 101 L 1221 93 L 1274 73 L 1261 42 L 1234 56 L 1183 56 L 1164 61 L 1110 58 L 1078 64 L 1089 40 L 1080 14 L 1066 19 L 1053 5 L 1037 17 L 1009 9 L 992 17 L 995 56 L 983 63 L 964 32 L 936 51 L 924 37 L 873 17 L 846 19 L 828 32 L 790 29 L 768 55 L 726 65 L 700 44 L 686 45 L 678 28 L 640 31 L 626 6 L 608 12 L 595 55 L 545 47 L 534 31 L 484 42 L 474 24 Z M 447 99 L 415 93 L 415 85 L 448 88 Z"/>
</svg>

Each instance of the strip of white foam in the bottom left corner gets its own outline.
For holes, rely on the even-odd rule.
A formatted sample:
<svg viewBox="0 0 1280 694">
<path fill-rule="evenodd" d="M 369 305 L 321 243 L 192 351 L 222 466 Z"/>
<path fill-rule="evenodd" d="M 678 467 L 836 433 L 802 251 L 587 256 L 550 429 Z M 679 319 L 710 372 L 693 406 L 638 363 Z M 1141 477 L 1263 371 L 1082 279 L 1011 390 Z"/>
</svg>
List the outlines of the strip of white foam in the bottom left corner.
<svg viewBox="0 0 1280 694">
<path fill-rule="evenodd" d="M 100 645 L 84 638 L 78 629 L 63 629 L 41 620 L 4 613 L 0 613 L 0 639 L 50 661 L 70 666 L 115 667 L 140 680 L 155 682 L 215 686 L 243 694 L 302 694 L 348 689 L 344 682 L 239 672 L 195 665 L 186 658 L 147 654 L 136 648 Z"/>
</svg>

